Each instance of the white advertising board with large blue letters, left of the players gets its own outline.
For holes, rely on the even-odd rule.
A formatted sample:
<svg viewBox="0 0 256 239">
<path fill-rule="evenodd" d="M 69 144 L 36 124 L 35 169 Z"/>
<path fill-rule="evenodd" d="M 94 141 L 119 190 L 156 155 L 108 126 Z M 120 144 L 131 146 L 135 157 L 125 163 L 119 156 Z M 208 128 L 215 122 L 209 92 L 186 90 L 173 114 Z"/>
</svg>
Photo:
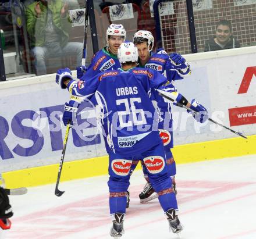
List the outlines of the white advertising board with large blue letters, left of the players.
<svg viewBox="0 0 256 239">
<path fill-rule="evenodd" d="M 69 92 L 53 77 L 52 82 L 5 88 L 0 94 L 1 172 L 59 163 L 66 132 L 60 118 Z M 88 107 L 79 116 L 81 133 L 70 130 L 65 162 L 106 155 L 94 109 Z"/>
</svg>

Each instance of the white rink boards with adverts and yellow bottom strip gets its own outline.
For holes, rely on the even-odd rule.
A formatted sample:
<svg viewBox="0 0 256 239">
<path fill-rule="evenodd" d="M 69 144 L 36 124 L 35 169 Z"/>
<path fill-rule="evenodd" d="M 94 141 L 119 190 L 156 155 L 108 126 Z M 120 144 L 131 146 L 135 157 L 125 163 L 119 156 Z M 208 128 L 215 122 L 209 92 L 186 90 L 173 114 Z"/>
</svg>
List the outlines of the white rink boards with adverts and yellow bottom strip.
<svg viewBox="0 0 256 239">
<path fill-rule="evenodd" d="M 256 154 L 255 47 L 187 55 L 193 73 L 175 86 L 186 98 L 197 99 L 211 117 L 248 140 L 216 127 L 198 124 L 184 109 L 173 108 L 177 163 Z M 69 94 L 55 75 L 0 84 L 0 164 L 8 187 L 36 186 L 56 180 L 65 127 L 63 104 Z M 106 174 L 104 141 L 93 123 L 94 110 L 81 115 L 81 135 L 72 130 L 62 180 Z M 85 139 L 85 140 L 84 140 Z"/>
</svg>

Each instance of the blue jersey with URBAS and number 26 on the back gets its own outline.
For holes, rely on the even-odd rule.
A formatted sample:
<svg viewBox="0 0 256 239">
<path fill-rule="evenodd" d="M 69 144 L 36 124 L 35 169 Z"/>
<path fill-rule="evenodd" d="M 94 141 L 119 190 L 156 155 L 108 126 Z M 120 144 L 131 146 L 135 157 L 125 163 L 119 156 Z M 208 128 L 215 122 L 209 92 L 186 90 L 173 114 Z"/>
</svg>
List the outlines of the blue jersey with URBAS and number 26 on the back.
<svg viewBox="0 0 256 239">
<path fill-rule="evenodd" d="M 84 80 L 86 76 L 83 76 Z M 157 112 L 148 95 L 153 88 L 176 92 L 165 77 L 151 69 L 111 70 L 83 81 L 70 81 L 67 88 L 75 98 L 95 97 L 109 147 L 127 156 L 144 152 L 161 142 Z M 176 100 L 181 95 L 176 93 Z"/>
</svg>

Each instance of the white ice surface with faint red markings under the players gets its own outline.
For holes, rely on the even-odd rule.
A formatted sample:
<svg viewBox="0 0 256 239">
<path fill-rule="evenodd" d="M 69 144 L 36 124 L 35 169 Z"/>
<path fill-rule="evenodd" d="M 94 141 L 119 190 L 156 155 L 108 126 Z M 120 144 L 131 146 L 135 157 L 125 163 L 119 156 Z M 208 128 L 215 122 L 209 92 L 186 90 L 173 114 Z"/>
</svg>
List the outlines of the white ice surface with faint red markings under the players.
<svg viewBox="0 0 256 239">
<path fill-rule="evenodd" d="M 97 170 L 97 169 L 95 169 Z M 65 173 L 65 168 L 63 172 Z M 57 172 L 56 172 L 57 174 Z M 14 216 L 7 239 L 112 238 L 109 230 L 108 176 L 29 188 L 10 196 Z M 177 165 L 177 201 L 183 239 L 256 238 L 256 156 Z M 141 171 L 131 177 L 130 208 L 122 238 L 178 238 L 169 232 L 158 199 L 140 204 Z"/>
</svg>

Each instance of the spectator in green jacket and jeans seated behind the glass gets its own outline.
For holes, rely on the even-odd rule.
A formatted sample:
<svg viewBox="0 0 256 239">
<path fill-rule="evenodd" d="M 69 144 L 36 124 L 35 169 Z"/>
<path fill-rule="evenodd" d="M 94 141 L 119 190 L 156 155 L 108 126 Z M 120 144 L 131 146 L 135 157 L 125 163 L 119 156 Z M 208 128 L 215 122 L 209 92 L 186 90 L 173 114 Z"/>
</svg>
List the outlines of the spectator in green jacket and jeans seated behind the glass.
<svg viewBox="0 0 256 239">
<path fill-rule="evenodd" d="M 51 57 L 76 56 L 76 66 L 81 65 L 83 44 L 69 42 L 69 6 L 62 0 L 40 0 L 26 8 L 27 31 L 35 73 L 47 74 L 45 60 Z"/>
</svg>

